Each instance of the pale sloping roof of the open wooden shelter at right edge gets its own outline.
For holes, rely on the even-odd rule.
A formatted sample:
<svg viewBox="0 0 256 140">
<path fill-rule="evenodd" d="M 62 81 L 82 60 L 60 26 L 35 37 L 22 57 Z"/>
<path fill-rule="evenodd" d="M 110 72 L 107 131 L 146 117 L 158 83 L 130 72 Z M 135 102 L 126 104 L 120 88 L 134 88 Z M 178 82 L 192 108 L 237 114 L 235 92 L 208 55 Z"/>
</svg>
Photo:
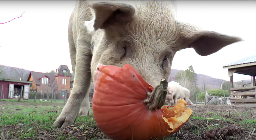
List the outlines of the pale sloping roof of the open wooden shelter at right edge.
<svg viewBox="0 0 256 140">
<path fill-rule="evenodd" d="M 223 69 L 224 68 L 230 69 L 230 68 L 237 68 L 237 67 L 247 67 L 247 66 L 254 66 L 254 65 L 256 65 L 256 54 L 246 57 L 242 60 L 233 62 L 231 64 L 228 64 L 226 66 L 223 66 Z"/>
</svg>

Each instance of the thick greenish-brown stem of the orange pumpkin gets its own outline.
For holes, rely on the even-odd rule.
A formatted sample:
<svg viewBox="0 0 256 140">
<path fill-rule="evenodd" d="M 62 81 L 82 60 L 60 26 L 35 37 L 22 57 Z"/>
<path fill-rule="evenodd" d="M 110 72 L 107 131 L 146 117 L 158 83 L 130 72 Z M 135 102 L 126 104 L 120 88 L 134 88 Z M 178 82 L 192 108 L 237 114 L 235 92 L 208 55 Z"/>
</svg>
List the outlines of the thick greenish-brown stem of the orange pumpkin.
<svg viewBox="0 0 256 140">
<path fill-rule="evenodd" d="M 144 100 L 144 103 L 147 104 L 148 109 L 156 110 L 164 105 L 167 94 L 167 87 L 168 82 L 166 79 L 163 79 L 160 84 L 156 86 L 152 93 L 147 94 L 148 97 Z"/>
</svg>

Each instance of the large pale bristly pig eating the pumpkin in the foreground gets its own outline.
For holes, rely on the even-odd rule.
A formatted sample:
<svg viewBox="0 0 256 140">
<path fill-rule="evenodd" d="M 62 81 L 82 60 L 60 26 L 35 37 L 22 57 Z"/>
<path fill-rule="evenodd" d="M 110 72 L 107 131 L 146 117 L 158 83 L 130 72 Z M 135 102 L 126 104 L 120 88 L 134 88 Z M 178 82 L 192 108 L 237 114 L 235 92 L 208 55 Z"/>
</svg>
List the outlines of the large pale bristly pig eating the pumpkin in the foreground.
<svg viewBox="0 0 256 140">
<path fill-rule="evenodd" d="M 156 87 L 170 75 L 177 51 L 192 47 L 206 56 L 241 40 L 176 21 L 170 2 L 142 1 L 135 6 L 76 2 L 68 27 L 74 86 L 53 127 L 74 124 L 82 104 L 82 114 L 88 114 L 88 90 L 98 63 L 117 67 L 129 63 Z"/>
</svg>

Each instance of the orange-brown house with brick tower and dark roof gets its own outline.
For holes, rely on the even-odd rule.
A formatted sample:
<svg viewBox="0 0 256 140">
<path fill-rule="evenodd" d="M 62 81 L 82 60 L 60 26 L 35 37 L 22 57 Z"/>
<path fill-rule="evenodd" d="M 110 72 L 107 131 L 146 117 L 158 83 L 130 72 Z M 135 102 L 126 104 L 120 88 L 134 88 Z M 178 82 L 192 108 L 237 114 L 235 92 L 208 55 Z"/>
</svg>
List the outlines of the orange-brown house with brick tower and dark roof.
<svg viewBox="0 0 256 140">
<path fill-rule="evenodd" d="M 30 90 L 38 93 L 51 94 L 54 92 L 56 99 L 67 99 L 70 91 L 71 73 L 66 65 L 60 65 L 56 73 L 40 73 L 31 71 L 28 81 L 32 81 Z"/>
</svg>

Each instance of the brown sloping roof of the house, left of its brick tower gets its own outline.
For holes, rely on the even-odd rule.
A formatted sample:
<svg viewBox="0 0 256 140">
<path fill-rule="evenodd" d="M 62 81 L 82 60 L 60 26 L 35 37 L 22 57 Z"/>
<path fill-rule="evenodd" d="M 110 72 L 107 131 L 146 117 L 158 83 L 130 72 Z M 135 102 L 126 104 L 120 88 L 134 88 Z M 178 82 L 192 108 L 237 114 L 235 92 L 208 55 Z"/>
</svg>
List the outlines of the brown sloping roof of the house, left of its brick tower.
<svg viewBox="0 0 256 140">
<path fill-rule="evenodd" d="M 55 74 L 52 74 L 52 73 L 39 73 L 39 72 L 31 71 L 29 76 L 28 76 L 28 80 L 30 79 L 31 74 L 32 74 L 33 80 L 35 81 L 37 86 L 41 85 L 40 79 L 42 77 L 44 77 L 44 76 L 49 79 L 49 82 L 55 79 Z"/>
</svg>

